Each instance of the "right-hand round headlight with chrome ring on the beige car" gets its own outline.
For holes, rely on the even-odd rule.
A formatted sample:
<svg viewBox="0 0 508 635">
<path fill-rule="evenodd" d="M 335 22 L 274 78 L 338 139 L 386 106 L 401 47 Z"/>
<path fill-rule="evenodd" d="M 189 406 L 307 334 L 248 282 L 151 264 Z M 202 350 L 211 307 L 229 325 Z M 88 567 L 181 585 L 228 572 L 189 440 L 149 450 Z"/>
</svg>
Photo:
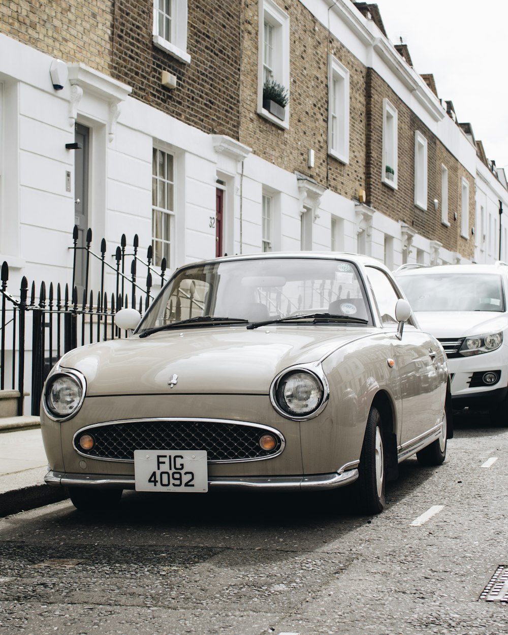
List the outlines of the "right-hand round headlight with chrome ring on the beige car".
<svg viewBox="0 0 508 635">
<path fill-rule="evenodd" d="M 319 370 L 313 372 L 297 367 L 277 375 L 270 391 L 274 408 L 290 419 L 316 417 L 326 405 L 329 394 L 326 377 Z"/>
</svg>

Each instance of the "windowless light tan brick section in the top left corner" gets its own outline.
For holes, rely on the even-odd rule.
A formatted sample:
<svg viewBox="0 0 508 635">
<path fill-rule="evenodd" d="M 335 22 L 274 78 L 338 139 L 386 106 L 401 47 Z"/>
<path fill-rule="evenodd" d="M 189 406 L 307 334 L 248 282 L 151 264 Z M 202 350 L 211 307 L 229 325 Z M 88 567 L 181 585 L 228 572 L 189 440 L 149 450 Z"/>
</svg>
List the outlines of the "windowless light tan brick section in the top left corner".
<svg viewBox="0 0 508 635">
<path fill-rule="evenodd" d="M 0 32 L 64 62 L 83 62 L 109 74 L 112 4 L 111 0 L 0 0 Z"/>
</svg>

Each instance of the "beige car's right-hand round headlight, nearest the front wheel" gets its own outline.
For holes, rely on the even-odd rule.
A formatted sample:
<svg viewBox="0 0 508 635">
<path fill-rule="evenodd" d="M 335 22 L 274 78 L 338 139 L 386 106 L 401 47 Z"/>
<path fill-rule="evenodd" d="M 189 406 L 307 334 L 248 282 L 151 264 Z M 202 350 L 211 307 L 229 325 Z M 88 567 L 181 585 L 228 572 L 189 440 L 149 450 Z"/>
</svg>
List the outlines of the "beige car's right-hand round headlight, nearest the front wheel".
<svg viewBox="0 0 508 635">
<path fill-rule="evenodd" d="M 275 397 L 284 413 L 291 417 L 305 417 L 318 410 L 323 403 L 324 388 L 316 375 L 295 370 L 279 379 Z"/>
</svg>

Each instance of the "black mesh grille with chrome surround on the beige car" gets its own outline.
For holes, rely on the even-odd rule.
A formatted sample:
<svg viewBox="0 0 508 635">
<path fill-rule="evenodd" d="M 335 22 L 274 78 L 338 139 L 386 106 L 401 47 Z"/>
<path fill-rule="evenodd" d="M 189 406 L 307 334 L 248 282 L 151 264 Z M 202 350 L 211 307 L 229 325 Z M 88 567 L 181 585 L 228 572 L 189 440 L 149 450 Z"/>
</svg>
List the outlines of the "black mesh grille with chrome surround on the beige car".
<svg viewBox="0 0 508 635">
<path fill-rule="evenodd" d="M 82 434 L 91 434 L 91 450 L 79 446 Z M 272 434 L 273 450 L 263 450 L 259 439 Z M 270 458 L 284 444 L 280 432 L 272 428 L 210 420 L 142 420 L 115 422 L 87 427 L 74 437 L 79 453 L 104 460 L 133 461 L 134 450 L 206 450 L 208 461 L 234 462 Z"/>
</svg>

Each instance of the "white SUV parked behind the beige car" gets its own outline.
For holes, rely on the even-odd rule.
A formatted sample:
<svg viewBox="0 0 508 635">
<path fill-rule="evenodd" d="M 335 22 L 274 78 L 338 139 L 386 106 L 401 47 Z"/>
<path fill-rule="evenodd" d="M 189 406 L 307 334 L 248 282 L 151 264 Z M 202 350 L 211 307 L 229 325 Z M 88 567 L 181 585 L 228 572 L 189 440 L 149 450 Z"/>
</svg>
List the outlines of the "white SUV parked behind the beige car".
<svg viewBox="0 0 508 635">
<path fill-rule="evenodd" d="M 403 265 L 394 275 L 446 351 L 453 408 L 508 422 L 508 265 Z"/>
</svg>

